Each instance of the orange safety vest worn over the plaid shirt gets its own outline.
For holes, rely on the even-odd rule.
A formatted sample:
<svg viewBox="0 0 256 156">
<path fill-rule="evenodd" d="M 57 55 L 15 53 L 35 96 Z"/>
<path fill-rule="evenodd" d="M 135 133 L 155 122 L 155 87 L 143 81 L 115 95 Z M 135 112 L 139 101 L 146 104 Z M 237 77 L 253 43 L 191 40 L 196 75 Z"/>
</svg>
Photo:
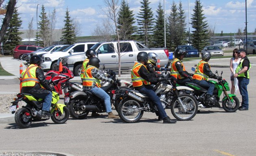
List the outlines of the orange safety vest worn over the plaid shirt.
<svg viewBox="0 0 256 156">
<path fill-rule="evenodd" d="M 92 86 L 93 85 L 93 82 L 96 83 L 96 86 L 98 88 L 101 87 L 100 85 L 100 80 L 97 79 L 97 78 L 94 78 L 92 75 L 91 75 L 91 70 L 94 69 L 96 67 L 92 66 L 92 65 L 89 65 L 86 69 L 85 69 L 85 78 L 82 79 L 82 85 L 83 86 Z"/>
</svg>

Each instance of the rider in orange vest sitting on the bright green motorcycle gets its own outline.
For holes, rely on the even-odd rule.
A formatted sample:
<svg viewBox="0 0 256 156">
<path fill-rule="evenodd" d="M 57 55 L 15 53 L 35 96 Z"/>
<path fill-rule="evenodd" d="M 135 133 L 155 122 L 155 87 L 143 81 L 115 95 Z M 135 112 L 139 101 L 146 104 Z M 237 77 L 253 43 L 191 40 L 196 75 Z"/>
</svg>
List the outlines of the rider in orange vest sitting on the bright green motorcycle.
<svg viewBox="0 0 256 156">
<path fill-rule="evenodd" d="M 214 102 L 216 98 L 213 96 L 214 84 L 208 81 L 208 78 L 215 78 L 220 80 L 221 77 L 213 74 L 210 70 L 208 61 L 210 60 L 210 52 L 202 52 L 202 60 L 197 64 L 193 80 L 197 85 L 208 88 L 205 102 Z"/>
</svg>

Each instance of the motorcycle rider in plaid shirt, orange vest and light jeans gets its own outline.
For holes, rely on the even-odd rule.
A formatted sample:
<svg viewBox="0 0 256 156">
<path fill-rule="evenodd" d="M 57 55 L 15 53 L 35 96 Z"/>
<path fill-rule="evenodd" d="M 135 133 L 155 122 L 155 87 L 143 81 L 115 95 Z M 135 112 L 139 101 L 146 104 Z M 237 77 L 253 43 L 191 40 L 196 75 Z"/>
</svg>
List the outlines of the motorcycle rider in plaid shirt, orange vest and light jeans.
<svg viewBox="0 0 256 156">
<path fill-rule="evenodd" d="M 91 93 L 96 95 L 98 98 L 104 100 L 106 107 L 106 113 L 108 113 L 108 119 L 118 119 L 119 116 L 114 115 L 111 109 L 110 96 L 100 87 L 100 80 L 114 83 L 114 80 L 104 76 L 100 73 L 100 60 L 97 57 L 92 57 L 89 60 L 88 66 L 85 69 L 85 78 L 82 81 L 83 89 L 89 90 Z"/>
</svg>

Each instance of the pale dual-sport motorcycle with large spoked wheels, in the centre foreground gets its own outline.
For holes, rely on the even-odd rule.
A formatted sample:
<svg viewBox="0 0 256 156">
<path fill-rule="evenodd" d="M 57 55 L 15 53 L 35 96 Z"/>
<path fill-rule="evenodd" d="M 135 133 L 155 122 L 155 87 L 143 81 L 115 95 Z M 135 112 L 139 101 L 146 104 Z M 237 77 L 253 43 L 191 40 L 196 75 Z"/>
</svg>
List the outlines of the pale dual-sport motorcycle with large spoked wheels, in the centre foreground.
<svg viewBox="0 0 256 156">
<path fill-rule="evenodd" d="M 162 73 L 167 82 L 158 82 L 154 91 L 159 96 L 163 108 L 171 108 L 172 115 L 178 120 L 191 120 L 197 113 L 197 102 L 192 95 L 180 94 L 176 80 L 169 73 Z M 125 90 L 119 93 L 119 117 L 126 123 L 135 123 L 141 119 L 144 112 L 155 113 L 155 104 L 150 98 L 136 90 Z"/>
</svg>

